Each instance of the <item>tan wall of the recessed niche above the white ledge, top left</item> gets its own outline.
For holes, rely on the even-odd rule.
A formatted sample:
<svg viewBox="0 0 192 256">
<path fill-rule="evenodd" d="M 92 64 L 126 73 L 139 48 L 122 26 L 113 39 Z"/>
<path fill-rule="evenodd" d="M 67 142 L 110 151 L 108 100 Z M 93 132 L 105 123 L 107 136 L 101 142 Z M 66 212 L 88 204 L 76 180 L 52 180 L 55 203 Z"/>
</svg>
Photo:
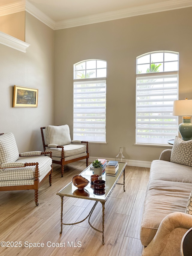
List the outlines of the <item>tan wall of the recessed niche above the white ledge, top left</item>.
<svg viewBox="0 0 192 256">
<path fill-rule="evenodd" d="M 1 16 L 0 31 L 25 41 L 25 11 Z"/>
</svg>

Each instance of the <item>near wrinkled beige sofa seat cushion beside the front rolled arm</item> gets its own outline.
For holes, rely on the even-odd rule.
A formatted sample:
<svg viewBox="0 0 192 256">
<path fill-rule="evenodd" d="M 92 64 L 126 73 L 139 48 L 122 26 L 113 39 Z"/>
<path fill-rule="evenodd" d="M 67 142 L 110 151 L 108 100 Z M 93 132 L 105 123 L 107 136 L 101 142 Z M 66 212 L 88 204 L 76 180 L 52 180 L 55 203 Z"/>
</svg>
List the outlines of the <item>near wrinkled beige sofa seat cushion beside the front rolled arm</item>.
<svg viewBox="0 0 192 256">
<path fill-rule="evenodd" d="M 147 246 L 155 236 L 165 216 L 172 212 L 185 212 L 191 183 L 164 180 L 150 181 L 146 192 L 140 239 Z"/>
</svg>

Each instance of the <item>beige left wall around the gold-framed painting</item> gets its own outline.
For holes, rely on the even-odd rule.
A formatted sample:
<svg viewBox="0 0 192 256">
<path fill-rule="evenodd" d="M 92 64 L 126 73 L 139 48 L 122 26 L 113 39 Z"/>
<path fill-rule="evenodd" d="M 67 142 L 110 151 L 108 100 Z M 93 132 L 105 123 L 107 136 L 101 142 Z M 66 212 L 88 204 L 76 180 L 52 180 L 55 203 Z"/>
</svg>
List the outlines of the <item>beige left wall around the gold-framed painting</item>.
<svg viewBox="0 0 192 256">
<path fill-rule="evenodd" d="M 19 152 L 42 150 L 40 127 L 53 124 L 54 31 L 26 13 L 27 52 L 0 44 L 0 133 L 12 131 Z M 13 108 L 13 86 L 39 89 L 37 108 Z"/>
</svg>

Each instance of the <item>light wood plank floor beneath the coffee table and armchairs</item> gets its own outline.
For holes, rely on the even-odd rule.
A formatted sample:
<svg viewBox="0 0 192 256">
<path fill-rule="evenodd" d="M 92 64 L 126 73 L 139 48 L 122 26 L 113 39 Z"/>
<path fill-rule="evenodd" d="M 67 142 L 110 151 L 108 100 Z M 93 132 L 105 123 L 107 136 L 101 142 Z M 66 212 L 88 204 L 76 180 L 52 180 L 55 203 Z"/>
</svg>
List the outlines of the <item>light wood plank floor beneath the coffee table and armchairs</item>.
<svg viewBox="0 0 192 256">
<path fill-rule="evenodd" d="M 1 256 L 141 255 L 140 221 L 149 168 L 126 166 L 126 191 L 123 192 L 123 186 L 117 184 L 105 204 L 105 245 L 102 245 L 102 234 L 93 230 L 87 219 L 76 225 L 63 226 L 63 233 L 59 233 L 61 198 L 56 193 L 85 167 L 85 162 L 68 164 L 61 178 L 60 166 L 53 164 L 52 186 L 47 179 L 39 189 L 39 206 L 35 206 L 33 190 L 0 192 L 0 242 L 20 241 L 22 244 L 21 247 L 0 246 Z M 94 203 L 92 200 L 64 197 L 63 222 L 74 223 L 84 219 Z M 101 203 L 97 204 L 90 222 L 102 230 Z M 34 244 L 29 248 L 29 242 L 43 243 L 44 246 L 34 247 Z M 56 247 L 57 243 L 64 243 L 64 247 Z"/>
</svg>

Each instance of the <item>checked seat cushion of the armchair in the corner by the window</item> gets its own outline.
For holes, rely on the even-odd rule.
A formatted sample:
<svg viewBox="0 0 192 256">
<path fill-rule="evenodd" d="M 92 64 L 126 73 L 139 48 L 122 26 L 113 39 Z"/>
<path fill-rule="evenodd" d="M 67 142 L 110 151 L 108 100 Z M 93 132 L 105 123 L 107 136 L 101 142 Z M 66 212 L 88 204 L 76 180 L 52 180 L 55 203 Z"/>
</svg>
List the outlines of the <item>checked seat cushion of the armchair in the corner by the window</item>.
<svg viewBox="0 0 192 256">
<path fill-rule="evenodd" d="M 52 157 L 60 157 L 61 158 L 61 150 L 62 149 L 55 149 L 55 148 L 46 148 L 48 151 L 52 151 Z M 85 145 L 64 145 L 64 157 L 79 155 L 81 153 L 86 153 L 86 146 Z M 73 159 L 73 158 L 72 158 Z"/>
</svg>

